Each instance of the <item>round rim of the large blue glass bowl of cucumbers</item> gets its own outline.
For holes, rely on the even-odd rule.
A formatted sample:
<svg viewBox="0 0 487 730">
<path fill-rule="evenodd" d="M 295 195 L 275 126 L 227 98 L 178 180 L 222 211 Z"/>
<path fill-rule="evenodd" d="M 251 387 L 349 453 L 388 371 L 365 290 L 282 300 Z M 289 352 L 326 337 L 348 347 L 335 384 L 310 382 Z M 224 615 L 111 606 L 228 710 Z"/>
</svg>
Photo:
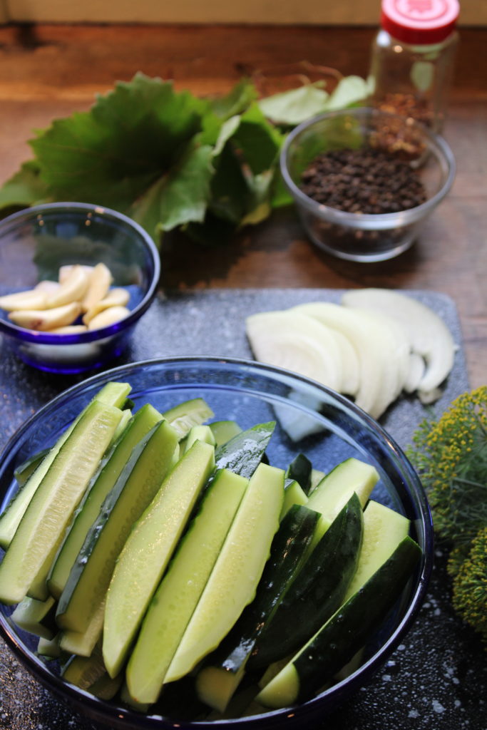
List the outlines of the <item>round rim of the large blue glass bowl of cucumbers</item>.
<svg viewBox="0 0 487 730">
<path fill-rule="evenodd" d="M 53 408 L 57 407 L 63 401 L 69 401 L 70 397 L 78 391 L 89 389 L 91 386 L 102 383 L 107 380 L 115 380 L 118 378 L 129 378 L 131 371 L 139 368 L 146 368 L 150 366 L 172 366 L 172 365 L 188 365 L 193 364 L 212 365 L 212 366 L 237 366 L 244 367 L 245 369 L 255 370 L 261 374 L 269 376 L 271 378 L 285 379 L 286 382 L 299 381 L 306 387 L 310 385 L 316 391 L 326 395 L 327 398 L 337 401 L 342 406 L 350 409 L 356 417 L 358 417 L 364 424 L 375 431 L 378 437 L 385 439 L 388 447 L 392 450 L 396 458 L 399 458 L 402 469 L 407 472 L 408 488 L 410 489 L 411 483 L 414 485 L 413 492 L 418 500 L 418 507 L 420 510 L 419 520 L 421 527 L 423 528 L 423 556 L 421 558 L 421 564 L 418 569 L 419 575 L 417 585 L 414 589 L 413 596 L 410 599 L 407 607 L 404 607 L 404 613 L 401 620 L 395 627 L 394 631 L 388 637 L 388 639 L 380 645 L 380 648 L 375 650 L 375 653 L 361 664 L 353 674 L 341 680 L 339 683 L 333 685 L 331 688 L 319 693 L 312 699 L 302 704 L 296 704 L 291 707 L 280 708 L 279 710 L 269 710 L 268 712 L 261 712 L 256 715 L 250 715 L 245 718 L 231 718 L 214 721 L 177 721 L 172 718 L 168 718 L 164 715 L 142 715 L 139 712 L 130 710 L 129 708 L 112 703 L 110 701 L 104 701 L 91 695 L 88 691 L 84 691 L 77 688 L 74 685 L 66 683 L 61 676 L 58 676 L 50 671 L 49 667 L 31 651 L 26 651 L 20 645 L 20 642 L 16 641 L 15 635 L 9 630 L 8 622 L 4 618 L 2 612 L 0 612 L 0 636 L 7 642 L 9 648 L 11 648 L 24 666 L 34 673 L 37 680 L 42 683 L 45 687 L 53 691 L 56 695 L 61 696 L 62 699 L 72 702 L 78 709 L 85 712 L 91 718 L 97 721 L 106 723 L 110 721 L 112 727 L 128 730 L 129 728 L 137 728 L 139 730 L 166 730 L 169 728 L 183 728 L 191 730 L 196 728 L 197 730 L 211 730 L 212 728 L 238 728 L 239 730 L 245 730 L 247 728 L 255 728 L 259 730 L 259 727 L 272 729 L 278 729 L 282 727 L 284 720 L 292 721 L 306 721 L 308 716 L 314 717 L 318 712 L 318 708 L 323 712 L 326 712 L 327 705 L 333 702 L 340 705 L 351 694 L 354 694 L 358 688 L 364 685 L 364 682 L 370 677 L 372 672 L 386 661 L 386 658 L 391 652 L 399 645 L 400 640 L 410 628 L 411 623 L 415 619 L 418 611 L 421 608 L 423 599 L 426 596 L 426 591 L 429 584 L 429 579 L 432 574 L 432 567 L 434 561 L 434 537 L 433 537 L 433 523 L 431 510 L 429 509 L 429 503 L 426 498 L 426 492 L 424 491 L 421 480 L 418 477 L 412 464 L 407 459 L 404 451 L 395 442 L 395 440 L 388 434 L 388 432 L 377 423 L 371 416 L 361 410 L 353 401 L 349 401 L 345 396 L 340 393 L 331 390 L 321 383 L 317 383 L 310 378 L 296 374 L 289 370 L 267 365 L 258 361 L 253 361 L 248 358 L 235 358 L 235 357 L 218 357 L 218 356 L 169 356 L 160 358 L 150 358 L 143 361 L 136 361 L 124 365 L 117 366 L 115 368 L 106 370 L 94 374 L 93 376 L 83 380 L 80 383 L 72 385 L 65 391 L 62 391 L 55 396 L 55 398 L 48 401 L 42 406 L 34 415 L 31 415 L 9 438 L 7 444 L 4 446 L 0 454 L 0 464 L 4 461 L 5 456 L 9 453 L 12 448 L 15 447 L 16 442 L 28 431 L 31 425 L 39 417 L 43 417 L 46 412 L 49 412 Z M 166 389 L 170 389 L 171 386 L 165 386 Z M 191 387 L 196 387 L 192 385 Z M 418 532 L 421 532 L 418 529 Z M 366 675 L 363 677 L 363 675 Z M 133 724 L 131 724 L 133 723 Z M 261 723 L 265 723 L 261 725 Z"/>
</svg>

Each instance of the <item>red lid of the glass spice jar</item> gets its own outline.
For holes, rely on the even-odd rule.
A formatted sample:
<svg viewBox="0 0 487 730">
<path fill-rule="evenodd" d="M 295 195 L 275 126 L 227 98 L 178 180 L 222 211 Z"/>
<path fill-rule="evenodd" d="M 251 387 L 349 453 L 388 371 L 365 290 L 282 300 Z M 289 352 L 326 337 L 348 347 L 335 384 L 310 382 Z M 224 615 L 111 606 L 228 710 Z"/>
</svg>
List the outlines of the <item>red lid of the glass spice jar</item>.
<svg viewBox="0 0 487 730">
<path fill-rule="evenodd" d="M 458 0 L 382 0 L 381 25 L 410 45 L 440 43 L 459 17 Z"/>
</svg>

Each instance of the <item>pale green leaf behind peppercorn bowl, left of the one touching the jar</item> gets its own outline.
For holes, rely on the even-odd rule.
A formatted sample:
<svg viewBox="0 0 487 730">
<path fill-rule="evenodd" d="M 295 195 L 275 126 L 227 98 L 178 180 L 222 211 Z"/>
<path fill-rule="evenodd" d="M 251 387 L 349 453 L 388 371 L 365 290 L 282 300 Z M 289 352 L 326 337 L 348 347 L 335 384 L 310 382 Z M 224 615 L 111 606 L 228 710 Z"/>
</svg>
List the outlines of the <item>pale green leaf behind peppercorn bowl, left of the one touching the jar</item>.
<svg viewBox="0 0 487 730">
<path fill-rule="evenodd" d="M 324 112 L 327 99 L 329 93 L 317 84 L 307 84 L 267 96 L 258 102 L 258 107 L 266 118 L 276 124 L 294 126 Z"/>
</svg>

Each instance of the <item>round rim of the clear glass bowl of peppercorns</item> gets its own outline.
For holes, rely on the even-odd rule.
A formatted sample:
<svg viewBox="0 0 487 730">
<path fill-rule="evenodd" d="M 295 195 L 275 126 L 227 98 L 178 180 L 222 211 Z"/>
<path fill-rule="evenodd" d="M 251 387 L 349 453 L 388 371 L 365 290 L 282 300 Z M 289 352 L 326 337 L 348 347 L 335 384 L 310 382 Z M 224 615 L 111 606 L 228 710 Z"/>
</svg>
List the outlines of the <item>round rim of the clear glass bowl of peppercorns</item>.
<svg viewBox="0 0 487 730">
<path fill-rule="evenodd" d="M 408 120 L 408 126 L 416 127 L 423 132 L 425 137 L 429 140 L 430 149 L 434 152 L 440 166 L 446 169 L 446 180 L 445 183 L 443 183 L 442 188 L 440 188 L 437 193 L 434 193 L 431 198 L 426 200 L 424 203 L 421 203 L 421 205 L 416 205 L 415 207 L 408 208 L 407 210 L 398 210 L 390 213 L 351 213 L 345 210 L 332 208 L 323 203 L 318 203 L 305 195 L 298 185 L 294 183 L 294 180 L 288 170 L 288 156 L 296 137 L 299 137 L 303 131 L 323 120 L 345 116 L 356 116 L 358 118 L 381 116 L 404 121 Z M 288 188 L 288 191 L 291 193 L 291 196 L 293 196 L 295 203 L 304 207 L 307 212 L 318 216 L 318 218 L 324 218 L 332 223 L 348 226 L 349 228 L 386 229 L 416 223 L 433 210 L 434 207 L 436 207 L 447 195 L 453 185 L 453 180 L 455 179 L 456 174 L 456 161 L 448 142 L 446 142 L 446 140 L 439 134 L 434 133 L 424 124 L 418 122 L 418 120 L 393 114 L 391 112 L 383 112 L 382 110 L 377 110 L 374 107 L 348 107 L 342 110 L 325 112 L 307 119 L 296 126 L 288 134 L 288 137 L 285 139 L 284 145 L 280 151 L 280 172 L 283 177 L 285 187 Z"/>
</svg>

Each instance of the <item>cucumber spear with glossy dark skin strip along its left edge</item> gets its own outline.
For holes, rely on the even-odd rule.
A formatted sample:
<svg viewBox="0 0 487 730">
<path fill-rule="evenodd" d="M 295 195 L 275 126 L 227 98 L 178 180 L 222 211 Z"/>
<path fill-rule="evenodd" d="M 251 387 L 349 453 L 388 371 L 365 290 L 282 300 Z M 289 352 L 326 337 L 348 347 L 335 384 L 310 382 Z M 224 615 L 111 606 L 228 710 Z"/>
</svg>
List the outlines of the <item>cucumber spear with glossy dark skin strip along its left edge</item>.
<svg viewBox="0 0 487 730">
<path fill-rule="evenodd" d="M 120 550 L 134 522 L 156 495 L 179 454 L 178 437 L 165 420 L 134 448 L 86 535 L 58 603 L 61 629 L 83 633 L 104 601 Z"/>
</svg>

